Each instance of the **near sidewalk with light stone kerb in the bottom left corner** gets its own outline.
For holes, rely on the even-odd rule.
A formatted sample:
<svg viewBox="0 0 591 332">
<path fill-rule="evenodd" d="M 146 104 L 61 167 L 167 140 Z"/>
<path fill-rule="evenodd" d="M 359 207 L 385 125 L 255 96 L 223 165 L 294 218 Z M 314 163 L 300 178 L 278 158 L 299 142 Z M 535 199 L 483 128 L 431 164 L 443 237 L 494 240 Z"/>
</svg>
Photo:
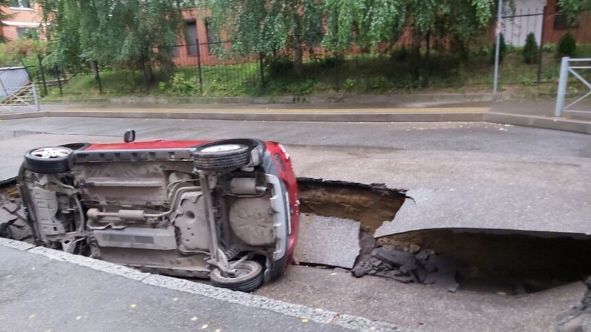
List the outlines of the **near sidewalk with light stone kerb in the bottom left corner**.
<svg viewBox="0 0 591 332">
<path fill-rule="evenodd" d="M 1 238 L 0 266 L 1 331 L 399 331 Z"/>
</svg>

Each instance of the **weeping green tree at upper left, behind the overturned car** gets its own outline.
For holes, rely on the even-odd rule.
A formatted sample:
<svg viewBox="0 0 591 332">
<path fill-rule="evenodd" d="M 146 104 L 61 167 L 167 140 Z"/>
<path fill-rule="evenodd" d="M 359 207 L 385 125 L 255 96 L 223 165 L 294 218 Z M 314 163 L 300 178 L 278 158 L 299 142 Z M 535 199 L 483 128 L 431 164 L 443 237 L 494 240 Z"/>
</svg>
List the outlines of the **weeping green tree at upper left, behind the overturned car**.
<svg viewBox="0 0 591 332">
<path fill-rule="evenodd" d="M 47 62 L 79 69 L 81 63 L 141 69 L 172 66 L 181 31 L 180 0 L 39 0 L 52 50 Z"/>
</svg>

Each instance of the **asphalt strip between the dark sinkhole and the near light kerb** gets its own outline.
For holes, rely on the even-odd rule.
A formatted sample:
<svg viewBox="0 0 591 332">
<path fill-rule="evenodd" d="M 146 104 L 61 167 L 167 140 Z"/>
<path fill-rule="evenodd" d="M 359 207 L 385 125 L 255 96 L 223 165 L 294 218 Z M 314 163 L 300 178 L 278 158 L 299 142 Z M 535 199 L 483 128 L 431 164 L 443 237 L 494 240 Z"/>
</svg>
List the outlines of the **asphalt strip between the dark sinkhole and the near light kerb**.
<svg viewBox="0 0 591 332">
<path fill-rule="evenodd" d="M 451 294 L 437 285 L 291 266 L 279 281 L 256 294 L 388 320 L 417 331 L 555 331 L 556 316 L 580 303 L 585 290 L 579 282 L 525 296 L 462 289 Z M 591 331 L 591 325 L 586 328 Z"/>
</svg>

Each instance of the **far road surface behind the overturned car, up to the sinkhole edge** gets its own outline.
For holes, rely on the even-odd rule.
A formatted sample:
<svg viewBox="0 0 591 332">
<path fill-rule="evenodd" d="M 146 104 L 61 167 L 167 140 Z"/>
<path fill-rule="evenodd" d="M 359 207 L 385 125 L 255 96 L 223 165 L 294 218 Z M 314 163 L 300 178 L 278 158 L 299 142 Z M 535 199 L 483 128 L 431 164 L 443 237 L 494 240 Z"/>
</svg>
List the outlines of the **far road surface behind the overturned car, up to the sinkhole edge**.
<svg viewBox="0 0 591 332">
<path fill-rule="evenodd" d="M 52 117 L 1 121 L 0 132 L 102 137 L 31 134 L 0 141 L 0 154 L 14 167 L 25 146 L 45 145 L 49 138 L 117 141 L 127 128 L 135 128 L 140 140 L 271 139 L 289 145 L 298 176 L 408 189 L 415 202 L 405 202 L 388 233 L 441 227 L 591 233 L 591 136 L 586 134 L 491 123 Z"/>
</svg>

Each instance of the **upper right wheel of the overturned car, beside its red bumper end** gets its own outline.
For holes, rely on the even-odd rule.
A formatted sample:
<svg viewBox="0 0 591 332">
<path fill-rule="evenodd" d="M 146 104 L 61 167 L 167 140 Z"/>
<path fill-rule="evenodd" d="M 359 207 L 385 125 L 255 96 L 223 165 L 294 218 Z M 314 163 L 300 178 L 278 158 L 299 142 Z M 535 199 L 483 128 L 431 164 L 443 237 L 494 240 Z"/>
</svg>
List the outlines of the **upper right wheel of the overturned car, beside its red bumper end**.
<svg viewBox="0 0 591 332">
<path fill-rule="evenodd" d="M 250 148 L 239 143 L 208 143 L 193 152 L 193 164 L 202 171 L 237 169 L 250 161 Z"/>
</svg>

